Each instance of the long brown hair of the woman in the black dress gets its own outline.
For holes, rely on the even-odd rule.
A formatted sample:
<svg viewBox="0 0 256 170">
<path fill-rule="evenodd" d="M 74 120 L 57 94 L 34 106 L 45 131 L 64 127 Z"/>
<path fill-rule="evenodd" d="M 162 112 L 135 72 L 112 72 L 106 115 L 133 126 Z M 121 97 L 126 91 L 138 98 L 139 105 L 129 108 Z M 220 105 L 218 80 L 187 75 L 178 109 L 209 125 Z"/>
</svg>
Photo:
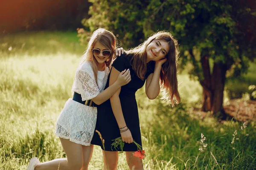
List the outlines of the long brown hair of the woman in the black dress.
<svg viewBox="0 0 256 170">
<path fill-rule="evenodd" d="M 140 79 L 145 79 L 147 71 L 147 53 L 146 48 L 149 43 L 155 40 L 168 42 L 169 51 L 166 54 L 167 61 L 163 63 L 160 72 L 161 91 L 163 91 L 162 99 L 171 102 L 172 106 L 180 102 L 180 94 L 178 92 L 177 81 L 177 64 L 179 58 L 179 45 L 177 40 L 168 31 L 159 31 L 154 33 L 147 40 L 137 47 L 126 51 L 132 54 L 131 65 Z M 154 62 L 154 61 L 151 61 Z"/>
</svg>

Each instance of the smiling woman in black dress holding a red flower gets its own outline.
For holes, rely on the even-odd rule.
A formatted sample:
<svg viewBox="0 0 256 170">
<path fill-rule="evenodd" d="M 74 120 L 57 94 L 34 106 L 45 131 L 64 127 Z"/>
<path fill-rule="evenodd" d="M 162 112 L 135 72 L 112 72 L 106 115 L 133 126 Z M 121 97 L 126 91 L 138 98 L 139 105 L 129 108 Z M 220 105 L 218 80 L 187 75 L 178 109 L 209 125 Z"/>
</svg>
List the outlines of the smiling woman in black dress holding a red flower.
<svg viewBox="0 0 256 170">
<path fill-rule="evenodd" d="M 128 68 L 131 71 L 131 82 L 119 88 L 109 100 L 98 106 L 96 130 L 101 133 L 105 144 L 103 147 L 97 133 L 94 133 L 91 144 L 102 147 L 104 169 L 117 169 L 117 151 L 121 150 L 111 148 L 111 144 L 113 139 L 121 136 L 125 142 L 123 151 L 130 169 L 143 170 L 142 160 L 132 156 L 138 150 L 133 141 L 142 146 L 135 92 L 146 82 L 145 93 L 149 99 L 155 99 L 160 90 L 163 90 L 165 99 L 172 106 L 179 103 L 178 55 L 177 40 L 170 32 L 160 31 L 148 37 L 136 48 L 126 51 L 113 62 L 105 88 L 112 85 L 118 74 Z"/>
</svg>

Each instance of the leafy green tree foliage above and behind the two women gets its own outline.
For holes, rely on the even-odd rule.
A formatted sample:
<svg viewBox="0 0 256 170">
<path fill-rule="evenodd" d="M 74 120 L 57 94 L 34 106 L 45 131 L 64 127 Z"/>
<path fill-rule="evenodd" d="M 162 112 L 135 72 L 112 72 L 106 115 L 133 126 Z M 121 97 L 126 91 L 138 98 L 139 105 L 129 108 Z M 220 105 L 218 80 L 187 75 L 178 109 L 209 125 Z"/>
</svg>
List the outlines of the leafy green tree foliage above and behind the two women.
<svg viewBox="0 0 256 170">
<path fill-rule="evenodd" d="M 194 66 L 190 74 L 204 78 L 200 59 L 207 56 L 213 63 L 227 65 L 236 77 L 246 72 L 249 59 L 256 57 L 256 16 L 252 10 L 256 3 L 246 2 L 90 0 L 91 17 L 83 24 L 90 31 L 98 27 L 113 31 L 125 48 L 140 44 L 158 30 L 171 31 L 180 44 L 181 67 L 186 68 L 188 62 Z M 194 51 L 199 51 L 198 59 Z"/>
</svg>

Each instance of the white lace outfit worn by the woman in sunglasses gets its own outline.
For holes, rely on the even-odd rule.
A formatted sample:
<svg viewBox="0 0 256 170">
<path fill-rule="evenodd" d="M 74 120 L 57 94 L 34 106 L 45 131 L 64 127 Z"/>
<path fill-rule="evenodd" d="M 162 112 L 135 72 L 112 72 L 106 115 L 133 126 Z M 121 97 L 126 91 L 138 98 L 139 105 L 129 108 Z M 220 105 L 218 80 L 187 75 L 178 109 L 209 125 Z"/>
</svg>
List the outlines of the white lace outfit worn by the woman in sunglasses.
<svg viewBox="0 0 256 170">
<path fill-rule="evenodd" d="M 108 68 L 98 71 L 96 84 L 92 63 L 84 62 L 76 70 L 72 91 L 81 94 L 82 100 L 89 100 L 104 91 L 108 79 Z M 89 146 L 93 138 L 97 118 L 97 108 L 68 99 L 58 116 L 55 134 L 71 142 Z"/>
</svg>

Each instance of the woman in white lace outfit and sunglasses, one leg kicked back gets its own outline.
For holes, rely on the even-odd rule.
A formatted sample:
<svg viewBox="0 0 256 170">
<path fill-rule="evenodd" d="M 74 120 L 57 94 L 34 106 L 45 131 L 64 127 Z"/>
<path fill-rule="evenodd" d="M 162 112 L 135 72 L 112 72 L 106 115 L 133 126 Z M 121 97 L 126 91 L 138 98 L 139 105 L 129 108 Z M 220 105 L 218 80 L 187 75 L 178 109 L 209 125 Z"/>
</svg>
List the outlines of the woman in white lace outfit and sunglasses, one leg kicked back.
<svg viewBox="0 0 256 170">
<path fill-rule="evenodd" d="M 32 158 L 27 170 L 87 170 L 93 145 L 90 145 L 96 125 L 97 108 L 122 85 L 131 81 L 130 71 L 124 70 L 116 82 L 105 88 L 112 57 L 121 54 L 116 37 L 99 28 L 93 32 L 81 65 L 73 82 L 73 99 L 68 99 L 56 122 L 55 134 L 60 138 L 67 159 L 40 163 Z"/>
</svg>

